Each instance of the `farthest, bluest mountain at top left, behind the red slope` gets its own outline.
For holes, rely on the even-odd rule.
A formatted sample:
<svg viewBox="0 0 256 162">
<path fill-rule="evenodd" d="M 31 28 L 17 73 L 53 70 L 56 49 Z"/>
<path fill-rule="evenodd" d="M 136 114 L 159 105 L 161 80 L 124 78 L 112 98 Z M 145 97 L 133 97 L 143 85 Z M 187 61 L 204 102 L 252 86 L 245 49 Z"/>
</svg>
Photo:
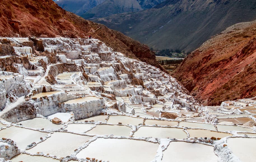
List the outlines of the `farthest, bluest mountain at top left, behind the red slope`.
<svg viewBox="0 0 256 162">
<path fill-rule="evenodd" d="M 66 11 L 81 16 L 104 1 L 105 0 L 59 0 L 55 3 Z"/>
</svg>

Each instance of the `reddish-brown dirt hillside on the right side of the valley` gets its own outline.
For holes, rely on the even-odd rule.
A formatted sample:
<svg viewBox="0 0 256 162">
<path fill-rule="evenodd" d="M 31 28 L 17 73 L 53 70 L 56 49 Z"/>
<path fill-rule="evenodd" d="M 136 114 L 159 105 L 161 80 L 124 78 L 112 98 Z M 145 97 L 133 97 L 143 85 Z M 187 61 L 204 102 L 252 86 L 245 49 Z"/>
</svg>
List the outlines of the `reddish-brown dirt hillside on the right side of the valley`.
<svg viewBox="0 0 256 162">
<path fill-rule="evenodd" d="M 208 105 L 256 96 L 256 21 L 239 23 L 212 37 L 173 71 Z"/>
</svg>

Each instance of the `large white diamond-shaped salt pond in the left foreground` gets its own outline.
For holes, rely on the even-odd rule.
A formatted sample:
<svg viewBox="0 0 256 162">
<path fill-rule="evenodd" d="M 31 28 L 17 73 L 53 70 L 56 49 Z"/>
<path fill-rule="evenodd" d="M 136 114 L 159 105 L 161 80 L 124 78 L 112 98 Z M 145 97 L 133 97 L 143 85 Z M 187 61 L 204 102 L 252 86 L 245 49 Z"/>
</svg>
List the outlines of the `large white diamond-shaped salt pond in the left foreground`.
<svg viewBox="0 0 256 162">
<path fill-rule="evenodd" d="M 36 154 L 37 152 L 43 152 L 58 157 L 66 157 L 71 155 L 75 149 L 82 146 L 87 140 L 92 137 L 77 135 L 64 132 L 54 132 L 51 137 L 44 142 L 39 143 L 27 152 Z"/>
</svg>

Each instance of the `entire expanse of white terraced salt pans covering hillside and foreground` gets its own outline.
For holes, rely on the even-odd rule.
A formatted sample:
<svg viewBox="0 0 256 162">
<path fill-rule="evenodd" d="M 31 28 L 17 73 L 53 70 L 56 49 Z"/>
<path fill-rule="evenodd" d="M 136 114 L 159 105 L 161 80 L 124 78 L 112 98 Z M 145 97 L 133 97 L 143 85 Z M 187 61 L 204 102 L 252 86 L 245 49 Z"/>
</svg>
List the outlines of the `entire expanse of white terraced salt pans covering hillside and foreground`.
<svg viewBox="0 0 256 162">
<path fill-rule="evenodd" d="M 59 62 L 29 54 L 34 69 L 0 69 L 0 144 L 10 144 L 0 151 L 13 157 L 17 144 L 22 152 L 12 161 L 255 159 L 256 97 L 202 106 L 170 75 L 97 39 L 42 40 Z M 19 51 L 17 57 L 25 56 Z"/>
</svg>

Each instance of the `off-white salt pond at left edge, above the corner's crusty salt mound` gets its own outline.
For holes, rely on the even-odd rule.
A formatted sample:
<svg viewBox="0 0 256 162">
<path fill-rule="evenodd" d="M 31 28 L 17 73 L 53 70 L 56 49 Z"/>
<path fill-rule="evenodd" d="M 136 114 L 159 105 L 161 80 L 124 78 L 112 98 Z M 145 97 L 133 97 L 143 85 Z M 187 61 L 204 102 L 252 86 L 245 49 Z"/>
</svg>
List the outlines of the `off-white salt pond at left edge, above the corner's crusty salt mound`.
<svg viewBox="0 0 256 162">
<path fill-rule="evenodd" d="M 48 133 L 19 128 L 15 126 L 11 126 L 0 131 L 1 138 L 14 140 L 17 143 L 18 148 L 20 149 L 25 149 L 32 142 L 40 141 L 40 137 L 45 137 L 47 136 L 47 134 Z"/>
</svg>

